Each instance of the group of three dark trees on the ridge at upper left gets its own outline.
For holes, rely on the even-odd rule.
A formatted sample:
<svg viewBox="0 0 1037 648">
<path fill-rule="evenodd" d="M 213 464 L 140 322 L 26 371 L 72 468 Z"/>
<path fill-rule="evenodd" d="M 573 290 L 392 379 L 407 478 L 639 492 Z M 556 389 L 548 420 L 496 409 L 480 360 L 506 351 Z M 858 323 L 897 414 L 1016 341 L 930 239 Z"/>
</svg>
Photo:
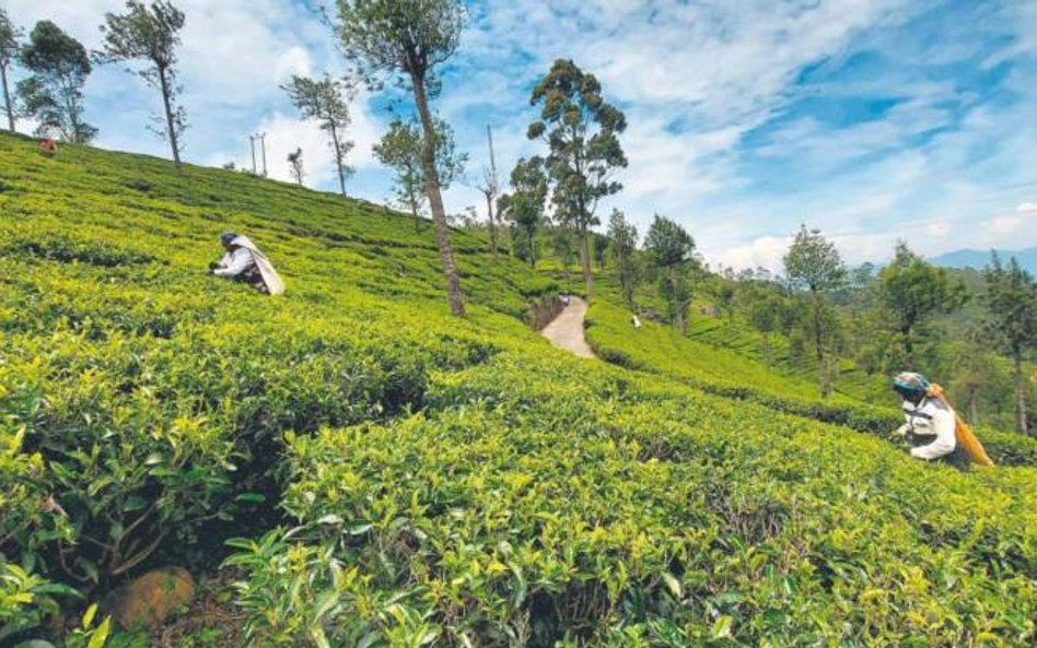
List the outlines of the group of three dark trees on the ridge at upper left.
<svg viewBox="0 0 1037 648">
<path fill-rule="evenodd" d="M 89 143 L 97 129 L 83 116 L 83 86 L 93 64 L 125 63 L 162 97 L 159 126 L 152 130 L 168 140 L 173 161 L 180 166 L 180 151 L 187 116 L 177 97 L 176 80 L 178 33 L 184 13 L 167 0 L 145 5 L 128 0 L 126 13 L 107 13 L 101 32 L 104 46 L 89 54 L 82 43 L 51 21 L 39 21 L 25 39 L 7 11 L 0 9 L 0 82 L 8 128 L 15 130 L 22 117 L 38 122 L 37 134 L 60 137 L 73 143 Z M 28 74 L 11 92 L 12 69 L 19 66 Z"/>
</svg>

